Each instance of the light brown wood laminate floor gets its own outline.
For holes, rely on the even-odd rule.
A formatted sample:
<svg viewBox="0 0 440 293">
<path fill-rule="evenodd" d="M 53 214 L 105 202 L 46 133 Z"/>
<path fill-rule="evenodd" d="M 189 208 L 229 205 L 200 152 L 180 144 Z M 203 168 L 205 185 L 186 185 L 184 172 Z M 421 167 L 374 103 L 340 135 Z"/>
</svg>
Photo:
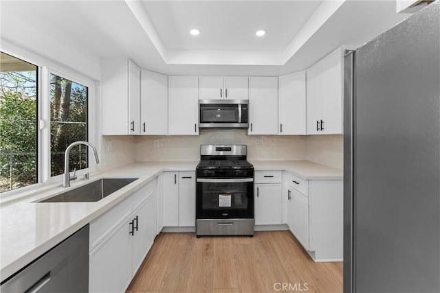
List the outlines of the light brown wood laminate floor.
<svg viewBox="0 0 440 293">
<path fill-rule="evenodd" d="M 342 262 L 315 263 L 289 231 L 160 233 L 127 292 L 342 292 Z"/>
</svg>

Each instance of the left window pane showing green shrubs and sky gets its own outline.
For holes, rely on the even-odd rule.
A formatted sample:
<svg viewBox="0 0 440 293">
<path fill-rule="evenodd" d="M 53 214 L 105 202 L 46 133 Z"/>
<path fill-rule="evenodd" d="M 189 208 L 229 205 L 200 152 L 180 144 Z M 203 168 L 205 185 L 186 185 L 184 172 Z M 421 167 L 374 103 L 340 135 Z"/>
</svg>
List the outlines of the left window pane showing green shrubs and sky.
<svg viewBox="0 0 440 293">
<path fill-rule="evenodd" d="M 38 181 L 37 67 L 0 52 L 0 192 Z"/>
</svg>

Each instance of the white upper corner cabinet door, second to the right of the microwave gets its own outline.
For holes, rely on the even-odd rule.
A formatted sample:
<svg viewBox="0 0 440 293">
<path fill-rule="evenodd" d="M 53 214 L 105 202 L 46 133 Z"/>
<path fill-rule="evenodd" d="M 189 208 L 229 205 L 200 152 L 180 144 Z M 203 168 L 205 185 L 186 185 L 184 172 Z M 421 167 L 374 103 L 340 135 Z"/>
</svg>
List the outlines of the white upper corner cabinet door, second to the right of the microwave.
<svg viewBox="0 0 440 293">
<path fill-rule="evenodd" d="M 279 79 L 280 134 L 305 134 L 305 71 Z"/>
</svg>

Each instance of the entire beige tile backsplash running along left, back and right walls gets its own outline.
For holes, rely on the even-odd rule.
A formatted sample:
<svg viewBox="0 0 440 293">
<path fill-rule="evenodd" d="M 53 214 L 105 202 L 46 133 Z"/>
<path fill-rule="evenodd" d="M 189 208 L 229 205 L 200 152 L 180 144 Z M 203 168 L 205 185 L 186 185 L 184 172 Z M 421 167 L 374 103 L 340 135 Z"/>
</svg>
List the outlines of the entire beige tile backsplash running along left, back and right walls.
<svg viewBox="0 0 440 293">
<path fill-rule="evenodd" d="M 136 161 L 198 161 L 201 144 L 248 145 L 250 161 L 308 160 L 339 169 L 344 163 L 342 135 L 251 136 L 248 130 L 242 129 L 201 129 L 197 136 L 102 137 L 100 169 L 113 169 Z"/>
</svg>

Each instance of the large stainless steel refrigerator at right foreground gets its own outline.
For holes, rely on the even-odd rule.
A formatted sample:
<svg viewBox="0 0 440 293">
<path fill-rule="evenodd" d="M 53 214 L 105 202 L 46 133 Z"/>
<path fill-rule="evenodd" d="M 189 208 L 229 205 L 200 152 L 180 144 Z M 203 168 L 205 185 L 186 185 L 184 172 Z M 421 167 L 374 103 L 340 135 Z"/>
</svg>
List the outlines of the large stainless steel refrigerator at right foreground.
<svg viewBox="0 0 440 293">
<path fill-rule="evenodd" d="M 344 292 L 440 292 L 440 3 L 344 59 Z"/>
</svg>

